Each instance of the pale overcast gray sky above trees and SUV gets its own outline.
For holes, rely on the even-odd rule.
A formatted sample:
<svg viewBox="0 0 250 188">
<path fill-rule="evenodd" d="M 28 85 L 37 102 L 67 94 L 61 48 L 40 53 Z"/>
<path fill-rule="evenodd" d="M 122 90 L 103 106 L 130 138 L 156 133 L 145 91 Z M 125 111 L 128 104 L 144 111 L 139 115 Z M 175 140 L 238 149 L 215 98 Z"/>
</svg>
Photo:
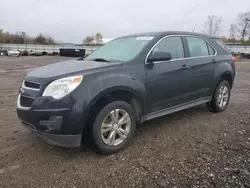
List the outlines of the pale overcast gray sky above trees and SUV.
<svg viewBox="0 0 250 188">
<path fill-rule="evenodd" d="M 194 28 L 204 32 L 207 16 L 215 14 L 223 18 L 218 34 L 228 36 L 237 14 L 248 11 L 250 0 L 0 0 L 0 28 L 82 43 L 96 32 L 103 38 Z"/>
</svg>

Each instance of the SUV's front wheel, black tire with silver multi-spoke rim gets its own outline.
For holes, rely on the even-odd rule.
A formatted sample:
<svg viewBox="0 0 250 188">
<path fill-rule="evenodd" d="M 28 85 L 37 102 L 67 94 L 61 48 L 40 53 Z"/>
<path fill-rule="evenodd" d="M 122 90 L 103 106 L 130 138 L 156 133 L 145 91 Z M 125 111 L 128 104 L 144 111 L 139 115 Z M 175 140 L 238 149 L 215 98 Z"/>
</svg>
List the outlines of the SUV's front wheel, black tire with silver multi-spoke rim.
<svg viewBox="0 0 250 188">
<path fill-rule="evenodd" d="M 92 127 L 93 144 L 98 152 L 112 154 L 127 146 L 135 134 L 135 114 L 132 106 L 124 101 L 111 102 L 100 110 Z M 121 121 L 122 118 L 124 121 Z M 119 123 L 118 120 L 124 124 Z"/>
</svg>

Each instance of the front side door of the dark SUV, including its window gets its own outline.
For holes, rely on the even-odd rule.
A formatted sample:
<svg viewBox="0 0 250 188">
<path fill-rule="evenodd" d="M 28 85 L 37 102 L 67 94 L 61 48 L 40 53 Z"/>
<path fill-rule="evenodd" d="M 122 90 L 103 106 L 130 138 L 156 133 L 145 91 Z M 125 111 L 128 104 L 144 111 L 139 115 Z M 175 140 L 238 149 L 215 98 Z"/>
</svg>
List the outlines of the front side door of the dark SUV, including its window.
<svg viewBox="0 0 250 188">
<path fill-rule="evenodd" d="M 189 77 L 186 72 L 183 40 L 180 36 L 167 36 L 152 49 L 168 52 L 170 61 L 146 62 L 149 112 L 154 112 L 190 101 Z"/>
</svg>

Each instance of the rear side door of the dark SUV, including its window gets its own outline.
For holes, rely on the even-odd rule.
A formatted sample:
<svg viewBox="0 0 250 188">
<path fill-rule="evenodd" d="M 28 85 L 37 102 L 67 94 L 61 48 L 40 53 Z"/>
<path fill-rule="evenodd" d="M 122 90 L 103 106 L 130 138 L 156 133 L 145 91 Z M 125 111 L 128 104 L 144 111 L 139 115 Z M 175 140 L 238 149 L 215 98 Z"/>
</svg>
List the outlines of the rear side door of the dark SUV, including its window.
<svg viewBox="0 0 250 188">
<path fill-rule="evenodd" d="M 186 59 L 186 77 L 189 79 L 188 87 L 190 100 L 197 100 L 211 96 L 214 87 L 214 70 L 216 51 L 212 45 L 203 38 L 186 36 L 185 45 L 189 58 Z"/>
</svg>

